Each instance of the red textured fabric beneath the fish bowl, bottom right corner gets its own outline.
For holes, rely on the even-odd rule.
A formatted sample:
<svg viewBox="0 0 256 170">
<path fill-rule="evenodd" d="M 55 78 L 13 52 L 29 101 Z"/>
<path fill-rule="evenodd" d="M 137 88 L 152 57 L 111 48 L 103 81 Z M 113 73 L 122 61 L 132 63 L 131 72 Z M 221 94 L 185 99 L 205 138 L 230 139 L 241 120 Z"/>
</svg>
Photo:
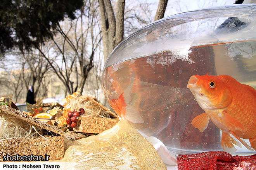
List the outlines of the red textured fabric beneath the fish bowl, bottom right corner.
<svg viewBox="0 0 256 170">
<path fill-rule="evenodd" d="M 178 170 L 254 170 L 256 154 L 232 156 L 223 151 L 178 155 Z"/>
</svg>

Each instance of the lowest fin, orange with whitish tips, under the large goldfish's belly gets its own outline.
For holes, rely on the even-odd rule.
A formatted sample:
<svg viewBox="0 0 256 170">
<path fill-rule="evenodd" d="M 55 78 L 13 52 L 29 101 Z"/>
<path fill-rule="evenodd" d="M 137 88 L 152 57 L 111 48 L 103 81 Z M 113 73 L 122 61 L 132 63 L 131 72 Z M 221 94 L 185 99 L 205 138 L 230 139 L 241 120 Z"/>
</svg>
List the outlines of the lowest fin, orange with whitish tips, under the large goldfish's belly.
<svg viewBox="0 0 256 170">
<path fill-rule="evenodd" d="M 235 139 L 232 138 L 230 136 L 230 134 L 222 132 L 221 147 L 222 147 L 223 151 L 231 153 L 231 154 L 235 153 L 235 151 L 237 151 L 237 149 L 235 148 L 235 146 L 232 143 L 234 143 L 235 145 L 237 145 L 239 147 L 242 146 L 240 143 L 235 141 Z"/>
</svg>

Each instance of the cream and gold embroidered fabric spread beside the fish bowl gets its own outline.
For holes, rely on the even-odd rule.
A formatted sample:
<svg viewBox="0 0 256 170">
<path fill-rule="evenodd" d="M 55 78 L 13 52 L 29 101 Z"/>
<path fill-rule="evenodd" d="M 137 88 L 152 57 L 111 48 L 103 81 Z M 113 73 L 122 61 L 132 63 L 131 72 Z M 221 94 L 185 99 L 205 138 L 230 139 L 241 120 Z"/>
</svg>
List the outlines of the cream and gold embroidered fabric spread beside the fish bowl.
<svg viewBox="0 0 256 170">
<path fill-rule="evenodd" d="M 54 162 L 73 162 L 77 170 L 166 169 L 151 143 L 123 120 L 96 136 L 66 140 L 64 158 Z"/>
</svg>

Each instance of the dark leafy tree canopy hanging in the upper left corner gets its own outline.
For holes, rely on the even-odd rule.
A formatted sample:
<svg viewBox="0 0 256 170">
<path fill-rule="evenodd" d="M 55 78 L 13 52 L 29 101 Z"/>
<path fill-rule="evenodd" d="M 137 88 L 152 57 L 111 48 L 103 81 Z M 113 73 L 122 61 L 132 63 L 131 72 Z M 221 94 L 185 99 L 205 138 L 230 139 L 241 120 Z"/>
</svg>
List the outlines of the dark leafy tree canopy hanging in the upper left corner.
<svg viewBox="0 0 256 170">
<path fill-rule="evenodd" d="M 83 0 L 1 0 L 0 52 L 29 49 L 45 41 L 65 17 L 75 18 Z"/>
</svg>

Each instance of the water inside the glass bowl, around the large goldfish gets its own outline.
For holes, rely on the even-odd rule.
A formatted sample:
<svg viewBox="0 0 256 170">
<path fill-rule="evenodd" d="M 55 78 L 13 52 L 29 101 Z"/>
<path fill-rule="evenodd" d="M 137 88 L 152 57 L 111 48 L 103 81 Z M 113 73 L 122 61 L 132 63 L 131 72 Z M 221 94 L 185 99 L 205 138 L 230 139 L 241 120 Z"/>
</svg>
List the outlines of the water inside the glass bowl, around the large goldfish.
<svg viewBox="0 0 256 170">
<path fill-rule="evenodd" d="M 122 61 L 104 69 L 102 85 L 111 107 L 132 127 L 160 139 L 175 153 L 199 153 L 222 150 L 221 131 L 213 122 L 203 133 L 191 124 L 204 110 L 187 82 L 206 73 L 230 75 L 256 88 L 256 41 L 194 46 Z M 237 155 L 255 153 L 244 146 L 237 149 Z"/>
</svg>

